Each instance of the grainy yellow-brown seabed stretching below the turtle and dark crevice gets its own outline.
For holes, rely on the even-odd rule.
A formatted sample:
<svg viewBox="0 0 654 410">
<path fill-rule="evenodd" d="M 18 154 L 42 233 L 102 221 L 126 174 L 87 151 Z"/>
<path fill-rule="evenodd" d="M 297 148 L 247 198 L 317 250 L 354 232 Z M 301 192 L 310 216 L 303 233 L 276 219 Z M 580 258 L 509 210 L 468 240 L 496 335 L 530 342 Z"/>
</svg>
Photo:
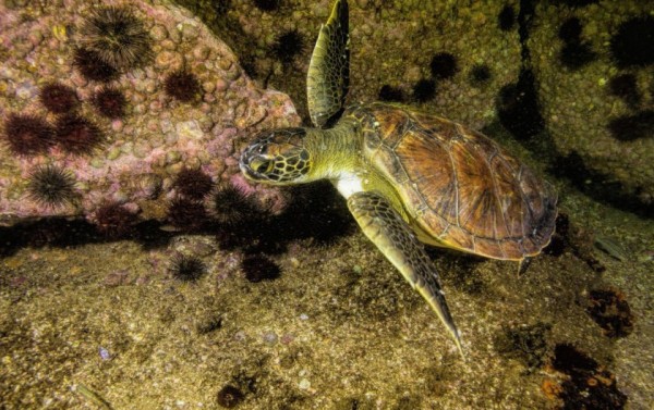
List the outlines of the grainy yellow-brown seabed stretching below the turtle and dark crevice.
<svg viewBox="0 0 654 410">
<path fill-rule="evenodd" d="M 550 409 L 564 398 L 613 408 L 622 395 L 650 408 L 654 221 L 565 187 L 560 197 L 576 234 L 522 276 L 514 263 L 431 251 L 465 360 L 342 204 L 344 233 L 269 252 L 274 281 L 249 281 L 242 249 L 211 233 L 10 249 L 0 408 Z M 593 237 L 613 238 L 626 259 Z M 175 278 L 175 252 L 206 273 Z M 617 295 L 604 310 L 629 331 L 627 301 L 628 336 L 608 337 L 588 313 L 596 290 Z"/>
</svg>

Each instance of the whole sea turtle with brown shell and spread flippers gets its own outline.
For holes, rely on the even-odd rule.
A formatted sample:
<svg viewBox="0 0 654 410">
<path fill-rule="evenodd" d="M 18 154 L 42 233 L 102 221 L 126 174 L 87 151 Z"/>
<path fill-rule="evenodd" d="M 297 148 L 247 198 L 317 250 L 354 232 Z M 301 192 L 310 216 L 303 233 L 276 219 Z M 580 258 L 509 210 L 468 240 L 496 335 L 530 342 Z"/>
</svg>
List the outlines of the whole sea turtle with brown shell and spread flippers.
<svg viewBox="0 0 654 410">
<path fill-rule="evenodd" d="M 329 179 L 363 233 L 436 311 L 463 353 L 422 243 L 521 263 L 554 232 L 550 184 L 484 135 L 408 107 L 344 108 L 348 2 L 323 25 L 307 74 L 315 128 L 259 134 L 243 151 L 246 178 L 291 185 Z"/>
</svg>

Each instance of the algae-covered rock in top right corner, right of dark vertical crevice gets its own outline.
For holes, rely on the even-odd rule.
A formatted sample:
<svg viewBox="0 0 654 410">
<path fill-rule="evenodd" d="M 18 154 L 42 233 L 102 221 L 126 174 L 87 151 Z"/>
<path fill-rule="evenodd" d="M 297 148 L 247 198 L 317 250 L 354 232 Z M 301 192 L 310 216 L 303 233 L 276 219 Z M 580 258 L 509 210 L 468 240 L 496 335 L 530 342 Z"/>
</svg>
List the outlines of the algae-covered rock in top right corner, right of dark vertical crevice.
<svg viewBox="0 0 654 410">
<path fill-rule="evenodd" d="M 580 158 L 643 204 L 654 203 L 651 9 L 640 1 L 579 9 L 538 3 L 529 40 L 557 150 Z M 631 62 L 625 53 L 638 58 Z"/>
</svg>

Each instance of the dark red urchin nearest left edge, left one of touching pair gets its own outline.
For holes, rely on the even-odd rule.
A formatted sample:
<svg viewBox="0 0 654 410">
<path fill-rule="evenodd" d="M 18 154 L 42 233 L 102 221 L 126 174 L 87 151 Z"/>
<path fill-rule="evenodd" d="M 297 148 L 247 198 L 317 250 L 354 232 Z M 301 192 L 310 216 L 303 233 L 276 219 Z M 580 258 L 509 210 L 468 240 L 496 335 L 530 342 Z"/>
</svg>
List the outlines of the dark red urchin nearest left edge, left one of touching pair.
<svg viewBox="0 0 654 410">
<path fill-rule="evenodd" d="M 12 152 L 31 156 L 45 152 L 52 145 L 55 129 L 36 115 L 10 114 L 4 123 L 4 140 Z"/>
</svg>

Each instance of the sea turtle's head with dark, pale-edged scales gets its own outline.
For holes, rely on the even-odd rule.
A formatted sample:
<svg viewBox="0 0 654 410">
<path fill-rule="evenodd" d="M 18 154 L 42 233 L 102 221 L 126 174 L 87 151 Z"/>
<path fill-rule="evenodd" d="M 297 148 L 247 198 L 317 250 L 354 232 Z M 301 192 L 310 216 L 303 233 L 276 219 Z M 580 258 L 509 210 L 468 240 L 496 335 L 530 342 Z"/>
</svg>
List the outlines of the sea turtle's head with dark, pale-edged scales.
<svg viewBox="0 0 654 410">
<path fill-rule="evenodd" d="M 311 156 L 304 128 L 280 128 L 257 135 L 241 154 L 239 166 L 251 181 L 271 185 L 310 182 Z"/>
</svg>

